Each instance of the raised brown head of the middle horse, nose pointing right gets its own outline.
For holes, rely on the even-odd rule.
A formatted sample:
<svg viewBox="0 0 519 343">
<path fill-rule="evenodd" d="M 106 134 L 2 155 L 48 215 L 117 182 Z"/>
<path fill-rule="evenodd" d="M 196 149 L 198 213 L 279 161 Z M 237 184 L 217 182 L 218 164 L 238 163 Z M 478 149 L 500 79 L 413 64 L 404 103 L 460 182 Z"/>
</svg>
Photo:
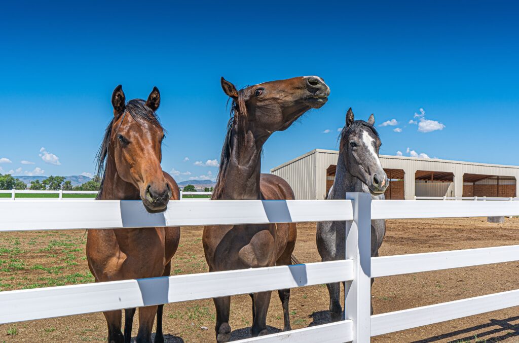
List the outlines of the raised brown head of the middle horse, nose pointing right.
<svg viewBox="0 0 519 343">
<path fill-rule="evenodd" d="M 330 95 L 330 87 L 318 76 L 265 82 L 240 91 L 223 77 L 221 82 L 238 107 L 243 101 L 251 128 L 266 133 L 285 130 L 309 109 L 322 107 Z"/>
</svg>

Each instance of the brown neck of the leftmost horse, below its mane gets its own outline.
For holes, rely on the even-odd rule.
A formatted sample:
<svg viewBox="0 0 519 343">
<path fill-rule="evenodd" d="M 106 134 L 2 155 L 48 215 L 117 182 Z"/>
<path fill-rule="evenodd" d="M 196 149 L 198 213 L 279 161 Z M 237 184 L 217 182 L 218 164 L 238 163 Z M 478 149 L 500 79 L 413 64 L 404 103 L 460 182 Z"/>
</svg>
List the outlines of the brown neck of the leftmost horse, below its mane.
<svg viewBox="0 0 519 343">
<path fill-rule="evenodd" d="M 108 157 L 104 175 L 101 200 L 140 200 L 139 189 L 121 179 L 117 173 L 115 161 Z"/>
</svg>

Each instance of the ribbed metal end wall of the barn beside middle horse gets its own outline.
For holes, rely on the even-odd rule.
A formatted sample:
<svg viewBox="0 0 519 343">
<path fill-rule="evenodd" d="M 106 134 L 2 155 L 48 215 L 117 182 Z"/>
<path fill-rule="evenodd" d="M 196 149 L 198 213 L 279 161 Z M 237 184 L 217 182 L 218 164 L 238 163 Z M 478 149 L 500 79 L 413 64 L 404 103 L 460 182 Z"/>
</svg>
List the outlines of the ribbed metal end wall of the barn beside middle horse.
<svg viewBox="0 0 519 343">
<path fill-rule="evenodd" d="M 292 160 L 282 166 L 270 170 L 274 175 L 283 178 L 290 184 L 295 199 L 315 199 L 316 180 L 316 153 L 315 151 Z"/>
</svg>

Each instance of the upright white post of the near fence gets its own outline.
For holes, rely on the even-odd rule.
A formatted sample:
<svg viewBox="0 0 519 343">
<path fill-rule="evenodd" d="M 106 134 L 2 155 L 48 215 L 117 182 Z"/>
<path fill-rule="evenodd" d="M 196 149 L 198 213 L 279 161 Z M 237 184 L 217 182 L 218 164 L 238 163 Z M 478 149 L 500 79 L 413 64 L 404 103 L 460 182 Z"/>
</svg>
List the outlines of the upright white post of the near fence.
<svg viewBox="0 0 519 343">
<path fill-rule="evenodd" d="M 353 202 L 353 221 L 346 221 L 346 258 L 353 260 L 352 281 L 346 282 L 344 312 L 353 321 L 353 343 L 371 337 L 371 194 L 346 193 Z"/>
</svg>

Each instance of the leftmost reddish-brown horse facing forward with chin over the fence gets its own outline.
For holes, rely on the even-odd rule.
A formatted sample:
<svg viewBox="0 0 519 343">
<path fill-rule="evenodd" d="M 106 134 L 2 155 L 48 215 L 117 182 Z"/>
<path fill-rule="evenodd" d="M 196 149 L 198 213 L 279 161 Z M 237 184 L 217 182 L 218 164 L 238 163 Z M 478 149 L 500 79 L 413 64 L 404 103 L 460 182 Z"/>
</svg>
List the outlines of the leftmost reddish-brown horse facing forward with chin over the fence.
<svg viewBox="0 0 519 343">
<path fill-rule="evenodd" d="M 155 114 L 159 104 L 160 94 L 156 87 L 147 101 L 134 99 L 128 103 L 125 103 L 121 86 L 115 88 L 112 95 L 114 118 L 106 128 L 98 153 L 101 188 L 97 199 L 142 200 L 150 213 L 163 212 L 170 199 L 179 199 L 175 180 L 160 167 L 165 136 Z M 171 258 L 179 240 L 178 227 L 89 230 L 88 267 L 95 282 L 169 276 Z M 155 343 L 164 341 L 162 307 L 139 309 L 137 342 L 151 342 L 155 314 Z M 129 343 L 135 309 L 125 310 L 124 336 L 121 310 L 103 313 L 108 324 L 108 342 Z"/>
</svg>

